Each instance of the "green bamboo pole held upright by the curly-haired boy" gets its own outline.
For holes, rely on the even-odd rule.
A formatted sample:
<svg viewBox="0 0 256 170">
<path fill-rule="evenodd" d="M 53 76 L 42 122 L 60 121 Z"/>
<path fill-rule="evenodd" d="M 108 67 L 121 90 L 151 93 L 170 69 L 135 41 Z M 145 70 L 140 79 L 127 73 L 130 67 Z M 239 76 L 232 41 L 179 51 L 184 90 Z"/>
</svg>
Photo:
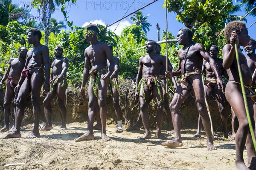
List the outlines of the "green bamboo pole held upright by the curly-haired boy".
<svg viewBox="0 0 256 170">
<path fill-rule="evenodd" d="M 253 125 L 252 125 L 252 122 L 251 122 L 251 119 L 250 119 L 250 112 L 249 112 L 249 107 L 248 107 L 248 103 L 247 103 L 247 98 L 246 98 L 246 93 L 245 93 L 245 88 L 244 88 L 244 81 L 243 81 L 243 77 L 242 77 L 242 72 L 241 72 L 241 67 L 240 67 L 240 59 L 239 59 L 239 54 L 238 54 L 237 48 L 238 48 L 237 47 L 237 42 L 235 42 L 236 61 L 237 61 L 237 68 L 238 68 L 238 72 L 239 72 L 242 94 L 243 94 L 243 98 L 244 98 L 244 107 L 245 107 L 247 120 L 248 120 L 249 127 L 250 127 L 250 134 L 253 138 L 254 149 L 256 151 L 256 139 L 255 139 L 255 135 L 254 135 Z"/>
</svg>

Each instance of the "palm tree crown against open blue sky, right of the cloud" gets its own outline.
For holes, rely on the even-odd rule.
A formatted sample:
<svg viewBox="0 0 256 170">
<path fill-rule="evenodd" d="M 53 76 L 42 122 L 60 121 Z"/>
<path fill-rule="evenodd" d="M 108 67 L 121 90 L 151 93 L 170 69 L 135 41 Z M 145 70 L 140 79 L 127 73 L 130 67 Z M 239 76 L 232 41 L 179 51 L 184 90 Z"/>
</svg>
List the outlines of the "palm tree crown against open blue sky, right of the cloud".
<svg viewBox="0 0 256 170">
<path fill-rule="evenodd" d="M 151 23 L 147 23 L 148 16 L 143 16 L 143 13 L 141 11 L 135 12 L 134 17 L 130 17 L 130 19 L 137 25 L 141 26 L 141 29 L 147 33 L 147 30 L 149 31 L 149 27 L 151 26 Z"/>
</svg>

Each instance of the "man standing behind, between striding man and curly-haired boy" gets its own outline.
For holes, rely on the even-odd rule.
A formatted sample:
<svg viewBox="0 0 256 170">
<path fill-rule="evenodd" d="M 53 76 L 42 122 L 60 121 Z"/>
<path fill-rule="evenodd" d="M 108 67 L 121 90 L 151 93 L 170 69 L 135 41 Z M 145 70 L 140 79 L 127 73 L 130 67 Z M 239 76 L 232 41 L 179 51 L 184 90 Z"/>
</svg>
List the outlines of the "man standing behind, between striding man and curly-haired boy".
<svg viewBox="0 0 256 170">
<path fill-rule="evenodd" d="M 218 58 L 218 46 L 211 46 L 209 49 L 209 55 L 211 58 L 214 59 L 214 61 L 216 62 L 216 64 L 218 65 L 218 69 L 220 73 L 224 72 L 224 68 L 222 66 L 222 59 Z M 233 138 L 231 136 L 228 135 L 227 132 L 227 118 L 228 115 L 225 114 L 224 112 L 224 95 L 221 89 L 218 89 L 217 86 L 217 77 L 214 74 L 214 72 L 212 71 L 211 66 L 209 65 L 209 63 L 204 60 L 203 62 L 203 67 L 202 67 L 202 72 L 204 72 L 206 70 L 206 79 L 204 81 L 204 94 L 205 97 L 207 99 L 207 101 L 210 98 L 210 95 L 214 95 L 215 100 L 218 104 L 218 109 L 219 112 L 221 114 L 221 121 L 222 121 L 222 126 L 223 126 L 223 130 L 224 130 L 224 138 L 228 138 L 229 140 L 233 140 Z M 199 115 L 198 117 L 198 131 L 195 134 L 195 137 L 200 137 L 201 136 L 201 115 Z"/>
</svg>

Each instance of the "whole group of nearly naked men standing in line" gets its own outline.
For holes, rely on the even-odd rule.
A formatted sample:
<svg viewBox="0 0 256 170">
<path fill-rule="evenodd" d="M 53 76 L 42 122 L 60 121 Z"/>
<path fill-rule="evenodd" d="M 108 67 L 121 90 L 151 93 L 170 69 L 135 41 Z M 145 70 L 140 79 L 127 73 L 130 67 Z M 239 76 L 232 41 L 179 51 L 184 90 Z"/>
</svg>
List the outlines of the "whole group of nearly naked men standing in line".
<svg viewBox="0 0 256 170">
<path fill-rule="evenodd" d="M 67 72 L 67 60 L 61 57 L 62 50 L 56 48 L 56 60 L 52 63 L 52 74 L 50 76 L 49 50 L 47 46 L 40 44 L 39 40 L 41 39 L 41 32 L 39 32 L 36 29 L 31 29 L 29 31 L 28 40 L 29 44 L 33 44 L 33 48 L 27 52 L 26 63 L 24 63 L 23 56 L 23 54 L 26 52 L 26 48 L 20 49 L 19 61 L 10 61 L 10 65 L 14 66 L 12 68 L 13 75 L 11 73 L 9 74 L 9 83 L 7 84 L 6 92 L 8 92 L 9 94 L 13 94 L 10 88 L 14 88 L 15 86 L 14 91 L 18 92 L 18 94 L 15 101 L 15 126 L 12 132 L 9 133 L 6 138 L 21 136 L 20 124 L 24 115 L 24 102 L 26 101 L 26 98 L 29 97 L 29 92 L 31 93 L 32 104 L 34 107 L 35 126 L 32 133 L 26 138 L 35 138 L 40 135 L 38 130 L 39 118 L 41 113 L 39 107 L 39 96 L 41 86 L 44 83 L 44 72 L 45 84 L 43 95 L 47 95 L 44 100 L 45 115 L 47 118 L 47 126 L 45 127 L 45 130 L 52 129 L 52 124 L 50 121 L 50 101 L 52 100 L 52 97 L 54 95 L 57 95 L 60 107 L 64 106 L 62 99 L 64 98 L 63 91 L 65 91 L 67 88 L 67 86 L 64 84 Z M 88 89 L 88 127 L 86 133 L 75 139 L 76 142 L 85 139 L 93 139 L 93 128 L 101 129 L 101 137 L 103 141 L 111 140 L 111 138 L 109 138 L 106 134 L 106 95 L 107 88 L 110 82 L 113 84 L 113 87 L 115 86 L 115 83 L 117 83 L 117 81 L 111 80 L 111 78 L 117 78 L 117 74 L 114 73 L 116 72 L 116 70 L 114 69 L 116 64 L 113 59 L 110 47 L 108 46 L 108 44 L 102 43 L 97 40 L 97 34 L 99 34 L 99 29 L 96 25 L 90 24 L 87 26 L 86 39 L 91 42 L 91 45 L 87 47 L 84 51 L 85 62 L 80 95 L 84 95 L 85 84 L 87 82 L 88 76 L 90 75 L 91 77 Z M 238 46 L 245 46 L 244 49 L 247 52 L 248 56 L 252 56 L 246 59 L 242 52 L 239 52 L 244 85 L 248 88 L 250 86 L 254 86 L 255 83 L 253 80 L 255 79 L 252 79 L 252 70 L 256 67 L 256 56 L 254 54 L 256 46 L 255 40 L 249 41 L 250 37 L 248 36 L 248 32 L 244 23 L 236 21 L 227 24 L 224 35 L 228 44 L 226 44 L 223 48 L 222 63 L 222 61 L 217 58 L 217 46 L 212 46 L 209 50 L 209 54 L 204 49 L 204 46 L 202 44 L 192 42 L 192 35 L 192 31 L 188 28 L 182 28 L 178 32 L 177 43 L 179 45 L 183 45 L 183 47 L 178 51 L 178 69 L 174 71 L 171 64 L 169 63 L 168 69 L 171 71 L 166 71 L 165 76 L 160 75 L 160 70 L 161 68 L 165 70 L 167 69 L 166 57 L 160 55 L 159 52 L 157 52 L 158 45 L 154 40 L 148 40 L 148 42 L 146 43 L 145 49 L 148 55 L 140 58 L 139 70 L 136 78 L 135 93 L 135 96 L 139 97 L 140 99 L 140 116 L 145 127 L 145 134 L 140 139 L 145 140 L 147 138 L 151 138 L 148 124 L 148 105 L 153 98 L 155 99 L 157 105 L 156 136 L 161 139 L 167 139 L 161 133 L 164 116 L 163 107 L 166 105 L 164 104 L 166 100 L 168 101 L 168 98 L 164 97 L 163 95 L 166 94 L 166 92 L 163 92 L 164 89 L 161 87 L 166 84 L 164 83 L 166 81 L 162 81 L 161 79 L 165 79 L 166 77 L 173 78 L 178 75 L 182 76 L 180 80 L 181 84 L 177 84 L 175 78 L 173 79 L 173 82 L 175 86 L 177 86 L 177 89 L 172 98 L 171 104 L 169 105 L 169 109 L 166 109 L 166 117 L 168 121 L 170 120 L 170 116 L 172 115 L 172 123 L 175 132 L 174 138 L 170 141 L 163 142 L 162 144 L 168 147 L 181 147 L 183 145 L 180 134 L 181 117 L 179 109 L 180 105 L 185 101 L 185 99 L 189 96 L 191 92 L 195 97 L 196 106 L 200 115 L 198 119 L 198 124 L 200 125 L 200 121 L 202 121 L 204 130 L 207 135 L 207 150 L 216 150 L 216 148 L 213 145 L 211 137 L 210 119 L 209 115 L 207 114 L 205 94 L 206 98 L 209 98 L 211 92 L 213 92 L 213 94 L 215 95 L 221 114 L 221 120 L 223 123 L 224 137 L 231 139 L 231 137 L 227 133 L 227 116 L 224 115 L 223 112 L 223 93 L 221 92 L 221 89 L 224 91 L 224 82 L 221 79 L 221 72 L 224 68 L 227 70 L 227 75 L 229 78 L 227 86 L 225 88 L 226 98 L 239 119 L 239 128 L 236 133 L 236 167 L 238 169 L 247 168 L 243 160 L 243 150 L 245 143 L 247 147 L 248 167 L 256 167 L 256 153 L 253 149 L 253 142 L 249 133 L 249 126 L 241 93 L 241 83 L 237 71 L 237 61 L 234 57 L 234 44 L 236 41 Z M 253 55 L 251 53 L 252 50 Z M 203 59 L 205 61 L 203 61 Z M 19 81 L 17 81 L 18 76 L 16 75 L 21 72 L 21 69 L 15 71 L 15 64 L 17 65 L 17 62 L 20 62 L 20 65 L 25 65 L 25 69 L 22 71 L 22 75 Z M 89 70 L 90 65 L 91 70 Z M 250 65 L 251 69 L 248 65 Z M 106 72 L 106 67 L 108 67 L 108 72 Z M 203 70 L 204 68 L 207 69 L 207 78 L 205 82 L 202 77 L 202 68 Z M 50 77 L 51 81 L 49 81 Z M 4 78 L 5 80 L 7 79 L 6 75 Z M 26 81 L 24 81 L 25 78 Z M 1 83 L 3 82 L 1 81 Z M 58 84 L 57 86 L 53 86 L 53 91 L 51 92 L 49 92 L 50 83 L 52 83 L 53 85 Z M 10 99 L 6 97 L 6 101 L 8 100 Z M 253 101 L 250 98 L 248 98 L 248 104 L 251 117 L 253 118 Z M 170 112 L 168 112 L 168 110 Z M 8 111 L 5 112 L 5 115 L 7 114 Z M 63 107 L 61 107 L 61 117 L 62 121 L 65 122 L 66 110 L 63 109 Z M 93 127 L 93 122 L 96 117 L 98 117 L 98 126 Z M 117 114 L 117 117 L 122 116 Z M 6 125 L 2 129 L 3 131 L 8 130 L 7 125 L 8 119 L 6 119 Z M 253 121 L 253 126 L 254 125 L 255 124 Z M 61 128 L 66 128 L 65 123 L 62 124 Z M 200 128 L 198 128 L 198 130 L 199 131 L 196 136 L 200 136 Z M 117 131 L 122 131 L 122 121 L 118 123 Z"/>
</svg>

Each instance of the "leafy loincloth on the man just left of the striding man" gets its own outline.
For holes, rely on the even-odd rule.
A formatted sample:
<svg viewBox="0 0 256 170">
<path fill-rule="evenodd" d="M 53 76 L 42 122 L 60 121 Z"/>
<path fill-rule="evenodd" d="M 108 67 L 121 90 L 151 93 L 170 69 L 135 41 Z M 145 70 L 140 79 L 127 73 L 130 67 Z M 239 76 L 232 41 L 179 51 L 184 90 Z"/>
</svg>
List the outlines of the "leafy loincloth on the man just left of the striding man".
<svg viewBox="0 0 256 170">
<path fill-rule="evenodd" d="M 162 97 L 161 97 L 161 92 L 160 92 L 160 88 L 162 88 L 162 87 L 161 87 L 160 84 L 163 84 L 163 83 L 158 80 L 158 76 L 157 77 L 151 76 L 151 77 L 147 77 L 147 78 L 142 78 L 140 80 L 139 84 L 138 84 L 137 91 L 140 94 L 141 86 L 143 86 L 143 99 L 144 99 L 144 101 L 146 101 L 144 84 L 146 85 L 147 89 L 149 89 L 149 90 L 152 90 L 153 86 L 157 86 L 157 93 L 160 97 L 160 101 L 159 101 L 159 104 L 160 104 L 163 101 Z"/>
</svg>

